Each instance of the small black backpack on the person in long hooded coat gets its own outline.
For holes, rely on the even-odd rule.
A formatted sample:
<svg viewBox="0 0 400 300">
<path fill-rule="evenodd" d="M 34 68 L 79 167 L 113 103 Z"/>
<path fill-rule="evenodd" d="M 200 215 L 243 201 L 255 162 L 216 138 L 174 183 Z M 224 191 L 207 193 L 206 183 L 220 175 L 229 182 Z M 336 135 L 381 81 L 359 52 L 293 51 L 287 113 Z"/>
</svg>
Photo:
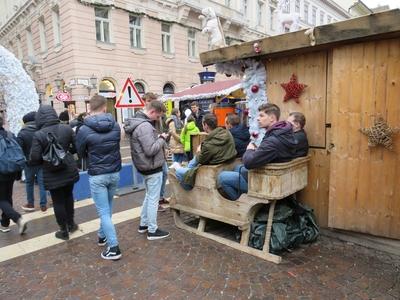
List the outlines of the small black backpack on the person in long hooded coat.
<svg viewBox="0 0 400 300">
<path fill-rule="evenodd" d="M 57 142 L 56 137 L 51 133 L 47 133 L 47 146 L 43 151 L 42 159 L 53 171 L 61 170 L 66 167 L 64 159 L 67 153 L 64 148 Z"/>
</svg>

